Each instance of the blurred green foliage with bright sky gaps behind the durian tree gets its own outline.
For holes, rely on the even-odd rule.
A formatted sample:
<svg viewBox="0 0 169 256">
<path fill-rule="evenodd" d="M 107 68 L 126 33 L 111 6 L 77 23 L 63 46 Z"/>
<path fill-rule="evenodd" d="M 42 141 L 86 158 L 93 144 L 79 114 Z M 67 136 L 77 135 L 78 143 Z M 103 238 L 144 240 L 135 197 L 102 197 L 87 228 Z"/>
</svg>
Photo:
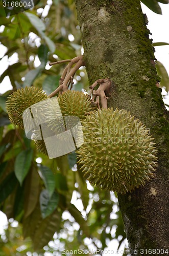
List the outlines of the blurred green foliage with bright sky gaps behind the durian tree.
<svg viewBox="0 0 169 256">
<path fill-rule="evenodd" d="M 142 2 L 158 13 L 158 2 L 166 1 Z M 1 61 L 9 63 L 0 83 L 8 78 L 12 86 L 0 95 L 0 209 L 9 220 L 1 234 L 0 256 L 104 250 L 113 240 L 118 249 L 124 249 L 126 233 L 116 195 L 83 179 L 75 152 L 52 160 L 39 153 L 25 132 L 10 124 L 6 112 L 12 91 L 34 86 L 48 95 L 58 87 L 65 64 L 50 67 L 48 62 L 83 54 L 74 1 L 42 0 L 10 17 L 1 1 L 0 20 Z M 169 91 L 168 75 L 160 62 L 158 73 Z M 85 67 L 81 67 L 73 90 L 88 91 L 88 87 Z"/>
</svg>

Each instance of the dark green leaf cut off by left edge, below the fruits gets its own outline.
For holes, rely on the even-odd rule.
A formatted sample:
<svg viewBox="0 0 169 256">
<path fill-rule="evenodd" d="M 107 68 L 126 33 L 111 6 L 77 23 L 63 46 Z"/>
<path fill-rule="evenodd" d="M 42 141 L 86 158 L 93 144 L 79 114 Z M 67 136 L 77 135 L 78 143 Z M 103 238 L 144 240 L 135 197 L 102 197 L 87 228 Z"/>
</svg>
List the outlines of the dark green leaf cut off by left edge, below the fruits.
<svg viewBox="0 0 169 256">
<path fill-rule="evenodd" d="M 10 173 L 0 186 L 0 203 L 2 203 L 13 191 L 17 184 L 14 172 Z"/>
</svg>

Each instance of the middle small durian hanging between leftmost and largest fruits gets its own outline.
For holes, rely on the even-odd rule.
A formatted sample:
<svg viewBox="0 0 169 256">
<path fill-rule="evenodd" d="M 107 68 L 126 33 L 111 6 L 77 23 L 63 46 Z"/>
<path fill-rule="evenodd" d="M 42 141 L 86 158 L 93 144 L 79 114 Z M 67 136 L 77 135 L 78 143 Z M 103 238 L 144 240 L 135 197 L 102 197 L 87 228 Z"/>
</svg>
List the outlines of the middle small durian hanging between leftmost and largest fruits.
<svg viewBox="0 0 169 256">
<path fill-rule="evenodd" d="M 96 109 L 88 95 L 79 91 L 69 90 L 55 99 L 47 110 L 46 121 L 49 128 L 56 133 L 70 130 L 77 125 L 79 119 L 84 119 L 89 112 Z"/>
</svg>

